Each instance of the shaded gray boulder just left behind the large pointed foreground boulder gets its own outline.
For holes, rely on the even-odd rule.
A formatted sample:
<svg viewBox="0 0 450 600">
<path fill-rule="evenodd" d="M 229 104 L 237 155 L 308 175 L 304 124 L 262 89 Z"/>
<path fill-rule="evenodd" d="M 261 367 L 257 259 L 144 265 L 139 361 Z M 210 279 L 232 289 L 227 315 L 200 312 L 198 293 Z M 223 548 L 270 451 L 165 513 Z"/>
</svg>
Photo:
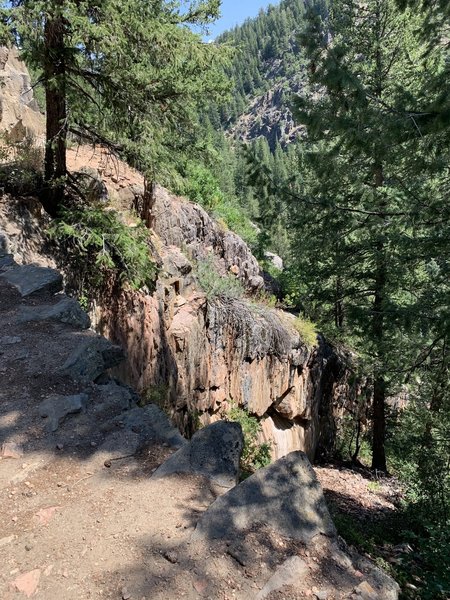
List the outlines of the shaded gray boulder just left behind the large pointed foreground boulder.
<svg viewBox="0 0 450 600">
<path fill-rule="evenodd" d="M 190 443 L 163 463 L 153 477 L 190 473 L 203 475 L 220 487 L 232 488 L 239 479 L 243 446 L 241 426 L 218 421 L 197 431 Z"/>
</svg>

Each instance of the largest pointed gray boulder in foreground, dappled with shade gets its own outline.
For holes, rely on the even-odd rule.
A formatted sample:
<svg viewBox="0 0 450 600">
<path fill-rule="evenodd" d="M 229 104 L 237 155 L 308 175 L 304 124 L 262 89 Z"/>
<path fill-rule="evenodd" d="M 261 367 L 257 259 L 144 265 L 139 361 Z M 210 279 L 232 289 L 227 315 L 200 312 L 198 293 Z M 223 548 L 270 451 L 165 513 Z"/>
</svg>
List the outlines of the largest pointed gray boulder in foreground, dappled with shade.
<svg viewBox="0 0 450 600">
<path fill-rule="evenodd" d="M 231 540 L 259 524 L 305 544 L 318 534 L 336 536 L 322 488 L 303 452 L 291 452 L 218 498 L 194 538 Z"/>
</svg>

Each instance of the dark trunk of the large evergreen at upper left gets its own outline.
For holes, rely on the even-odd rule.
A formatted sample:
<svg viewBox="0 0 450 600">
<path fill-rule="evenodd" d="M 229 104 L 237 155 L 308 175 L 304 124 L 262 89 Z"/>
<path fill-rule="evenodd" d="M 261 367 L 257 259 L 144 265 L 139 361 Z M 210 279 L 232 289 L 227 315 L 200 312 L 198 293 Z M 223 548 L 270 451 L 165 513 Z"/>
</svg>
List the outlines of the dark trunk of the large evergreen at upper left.
<svg viewBox="0 0 450 600">
<path fill-rule="evenodd" d="M 47 110 L 45 146 L 44 206 L 49 214 L 58 213 L 64 199 L 67 140 L 66 65 L 61 14 L 62 0 L 56 0 L 55 13 L 45 23 L 45 99 Z"/>
</svg>

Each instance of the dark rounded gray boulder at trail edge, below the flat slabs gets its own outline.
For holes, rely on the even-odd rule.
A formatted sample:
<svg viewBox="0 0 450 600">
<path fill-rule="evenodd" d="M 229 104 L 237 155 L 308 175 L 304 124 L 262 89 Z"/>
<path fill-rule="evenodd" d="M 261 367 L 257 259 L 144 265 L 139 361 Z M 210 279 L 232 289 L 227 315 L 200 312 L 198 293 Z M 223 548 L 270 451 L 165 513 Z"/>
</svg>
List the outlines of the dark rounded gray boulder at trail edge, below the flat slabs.
<svg viewBox="0 0 450 600">
<path fill-rule="evenodd" d="M 89 337 L 72 352 L 62 371 L 73 379 L 95 381 L 107 369 L 120 365 L 125 358 L 120 346 L 101 336 Z"/>
</svg>

